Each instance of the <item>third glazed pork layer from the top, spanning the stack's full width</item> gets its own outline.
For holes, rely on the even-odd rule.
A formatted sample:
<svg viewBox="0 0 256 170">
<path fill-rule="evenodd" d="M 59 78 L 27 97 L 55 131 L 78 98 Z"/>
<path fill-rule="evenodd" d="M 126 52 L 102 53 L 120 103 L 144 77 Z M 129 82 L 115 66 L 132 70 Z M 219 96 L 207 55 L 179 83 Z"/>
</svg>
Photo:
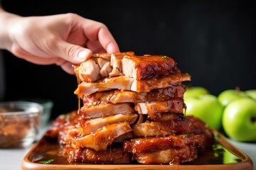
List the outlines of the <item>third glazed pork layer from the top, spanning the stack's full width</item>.
<svg viewBox="0 0 256 170">
<path fill-rule="evenodd" d="M 183 85 L 171 86 L 165 89 L 154 89 L 147 93 L 137 93 L 135 91 L 102 91 L 82 97 L 82 102 L 86 106 L 100 103 L 138 103 L 149 101 L 166 101 L 171 98 L 183 98 L 186 91 Z"/>
</svg>

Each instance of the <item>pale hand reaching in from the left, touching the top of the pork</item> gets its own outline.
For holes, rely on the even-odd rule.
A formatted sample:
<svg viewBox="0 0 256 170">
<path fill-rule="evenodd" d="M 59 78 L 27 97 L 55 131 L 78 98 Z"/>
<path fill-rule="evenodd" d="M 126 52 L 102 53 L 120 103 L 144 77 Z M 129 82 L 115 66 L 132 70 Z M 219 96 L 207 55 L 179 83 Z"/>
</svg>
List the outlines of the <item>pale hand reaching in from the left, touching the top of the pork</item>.
<svg viewBox="0 0 256 170">
<path fill-rule="evenodd" d="M 22 17 L 0 6 L 0 49 L 34 64 L 57 64 L 74 74 L 95 52 L 119 52 L 117 42 L 103 23 L 74 13 Z"/>
</svg>

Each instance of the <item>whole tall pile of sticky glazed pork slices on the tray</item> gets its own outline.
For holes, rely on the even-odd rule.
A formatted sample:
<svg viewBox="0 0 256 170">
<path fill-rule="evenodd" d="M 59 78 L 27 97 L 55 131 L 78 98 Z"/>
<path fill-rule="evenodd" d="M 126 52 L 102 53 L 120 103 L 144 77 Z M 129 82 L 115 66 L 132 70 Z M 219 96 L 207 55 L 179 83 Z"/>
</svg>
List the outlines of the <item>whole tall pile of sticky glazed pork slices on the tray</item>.
<svg viewBox="0 0 256 170">
<path fill-rule="evenodd" d="M 171 57 L 98 53 L 74 69 L 83 105 L 46 132 L 68 162 L 181 164 L 213 145 L 213 130 L 184 115 L 191 76 Z"/>
</svg>

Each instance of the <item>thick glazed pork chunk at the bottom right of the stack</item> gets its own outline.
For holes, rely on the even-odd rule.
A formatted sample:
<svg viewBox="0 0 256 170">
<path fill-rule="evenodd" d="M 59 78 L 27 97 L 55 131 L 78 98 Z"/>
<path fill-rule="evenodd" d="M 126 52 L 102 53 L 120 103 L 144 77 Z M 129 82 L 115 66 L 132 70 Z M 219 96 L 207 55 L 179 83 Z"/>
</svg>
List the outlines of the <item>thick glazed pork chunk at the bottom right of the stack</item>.
<svg viewBox="0 0 256 170">
<path fill-rule="evenodd" d="M 196 145 L 186 135 L 132 139 L 124 142 L 124 152 L 141 164 L 180 164 L 197 158 Z"/>
</svg>

